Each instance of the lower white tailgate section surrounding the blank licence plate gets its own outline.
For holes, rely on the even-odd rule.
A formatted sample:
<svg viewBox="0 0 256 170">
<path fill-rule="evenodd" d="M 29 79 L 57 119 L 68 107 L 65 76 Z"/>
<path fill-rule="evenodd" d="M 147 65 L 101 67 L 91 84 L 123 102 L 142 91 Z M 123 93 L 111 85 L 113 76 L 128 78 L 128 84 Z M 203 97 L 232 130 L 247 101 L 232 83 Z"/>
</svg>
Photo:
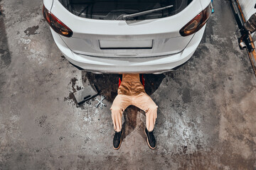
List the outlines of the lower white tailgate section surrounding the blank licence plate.
<svg viewBox="0 0 256 170">
<path fill-rule="evenodd" d="M 164 38 L 156 35 L 132 35 L 118 36 L 119 38 L 107 37 L 105 35 L 102 38 L 101 35 L 90 35 L 86 39 L 83 38 L 65 38 L 62 36 L 66 45 L 82 55 L 92 55 L 98 57 L 119 57 L 119 54 L 123 53 L 134 53 L 137 54 L 134 57 L 154 57 L 159 55 L 170 55 L 181 52 L 188 42 L 191 40 L 193 35 L 187 37 L 176 37 L 176 38 Z M 100 40 L 116 40 L 116 41 L 142 41 L 142 40 L 154 40 L 154 47 L 152 49 L 129 49 L 129 50 L 101 50 L 99 45 Z M 132 44 L 131 44 L 132 45 Z M 86 47 L 86 50 L 85 50 Z"/>
</svg>

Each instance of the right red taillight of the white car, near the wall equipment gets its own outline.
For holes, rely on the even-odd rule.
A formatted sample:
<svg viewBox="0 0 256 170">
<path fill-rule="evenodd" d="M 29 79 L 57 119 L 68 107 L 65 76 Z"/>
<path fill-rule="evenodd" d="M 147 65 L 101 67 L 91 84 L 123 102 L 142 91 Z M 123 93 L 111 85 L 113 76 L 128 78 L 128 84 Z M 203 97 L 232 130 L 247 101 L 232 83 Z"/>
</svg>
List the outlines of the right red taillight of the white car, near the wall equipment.
<svg viewBox="0 0 256 170">
<path fill-rule="evenodd" d="M 189 21 L 186 26 L 183 26 L 183 28 L 181 28 L 180 34 L 185 37 L 196 33 L 206 24 L 208 18 L 210 18 L 211 11 L 212 5 L 210 3 L 203 11 L 201 11 L 201 13 L 199 13 L 195 18 Z"/>
</svg>

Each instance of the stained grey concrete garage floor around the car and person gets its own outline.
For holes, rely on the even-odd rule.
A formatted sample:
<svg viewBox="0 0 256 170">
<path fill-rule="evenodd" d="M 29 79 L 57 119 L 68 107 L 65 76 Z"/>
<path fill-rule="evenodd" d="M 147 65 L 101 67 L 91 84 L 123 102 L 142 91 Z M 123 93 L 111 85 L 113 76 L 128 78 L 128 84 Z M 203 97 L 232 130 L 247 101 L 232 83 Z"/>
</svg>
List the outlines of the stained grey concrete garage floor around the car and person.
<svg viewBox="0 0 256 170">
<path fill-rule="evenodd" d="M 146 145 L 144 113 L 129 107 L 118 151 L 110 115 L 117 75 L 81 72 L 65 60 L 42 1 L 0 4 L 0 169 L 256 169 L 256 79 L 228 0 L 215 0 L 191 60 L 145 75 L 159 106 L 157 148 Z M 107 96 L 106 108 L 75 105 L 82 76 Z"/>
</svg>

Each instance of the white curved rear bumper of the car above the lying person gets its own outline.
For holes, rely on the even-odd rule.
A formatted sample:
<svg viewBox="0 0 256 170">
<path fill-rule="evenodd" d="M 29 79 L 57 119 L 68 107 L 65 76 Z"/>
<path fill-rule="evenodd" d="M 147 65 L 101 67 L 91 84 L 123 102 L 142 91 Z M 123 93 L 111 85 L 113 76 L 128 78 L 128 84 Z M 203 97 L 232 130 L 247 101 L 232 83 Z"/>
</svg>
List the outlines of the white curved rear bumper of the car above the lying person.
<svg viewBox="0 0 256 170">
<path fill-rule="evenodd" d="M 53 39 L 56 45 L 66 57 L 68 61 L 85 69 L 89 72 L 95 73 L 161 73 L 168 72 L 171 69 L 188 61 L 193 52 L 195 52 L 206 26 L 201 28 L 188 43 L 186 48 L 174 55 L 164 55 L 158 57 L 95 57 L 88 55 L 77 54 L 65 45 L 58 33 L 55 33 L 51 28 Z"/>
</svg>

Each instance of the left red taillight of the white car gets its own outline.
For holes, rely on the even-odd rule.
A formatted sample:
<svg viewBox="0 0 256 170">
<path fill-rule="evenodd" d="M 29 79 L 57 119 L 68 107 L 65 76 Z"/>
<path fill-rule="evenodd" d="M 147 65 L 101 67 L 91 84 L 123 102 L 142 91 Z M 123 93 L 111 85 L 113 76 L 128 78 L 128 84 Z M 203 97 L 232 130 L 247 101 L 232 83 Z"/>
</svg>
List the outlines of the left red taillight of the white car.
<svg viewBox="0 0 256 170">
<path fill-rule="evenodd" d="M 73 35 L 73 31 L 70 30 L 68 26 L 65 26 L 65 24 L 62 23 L 58 18 L 56 18 L 53 13 L 50 13 L 45 6 L 43 6 L 43 17 L 56 33 L 65 37 L 71 37 Z"/>
</svg>

